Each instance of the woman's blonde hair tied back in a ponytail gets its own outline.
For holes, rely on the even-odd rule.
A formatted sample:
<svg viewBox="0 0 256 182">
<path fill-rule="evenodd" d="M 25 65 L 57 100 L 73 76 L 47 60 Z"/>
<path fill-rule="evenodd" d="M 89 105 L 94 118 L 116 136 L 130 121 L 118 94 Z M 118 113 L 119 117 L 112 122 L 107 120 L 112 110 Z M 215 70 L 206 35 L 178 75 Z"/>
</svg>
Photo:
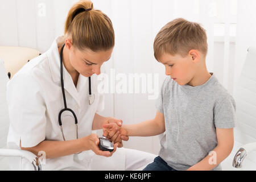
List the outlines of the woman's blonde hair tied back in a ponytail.
<svg viewBox="0 0 256 182">
<path fill-rule="evenodd" d="M 68 12 L 65 36 L 71 35 L 73 46 L 94 52 L 114 47 L 115 35 L 111 20 L 100 10 L 93 9 L 89 0 L 81 0 Z"/>
</svg>

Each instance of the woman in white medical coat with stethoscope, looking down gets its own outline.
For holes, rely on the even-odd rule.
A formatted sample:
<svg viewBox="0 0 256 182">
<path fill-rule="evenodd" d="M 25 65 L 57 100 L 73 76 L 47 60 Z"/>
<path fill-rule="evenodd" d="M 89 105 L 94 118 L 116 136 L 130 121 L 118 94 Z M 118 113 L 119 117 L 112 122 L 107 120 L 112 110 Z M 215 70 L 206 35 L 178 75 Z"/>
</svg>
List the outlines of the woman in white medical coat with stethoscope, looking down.
<svg viewBox="0 0 256 182">
<path fill-rule="evenodd" d="M 98 136 L 92 134 L 92 130 L 102 129 L 106 123 L 122 125 L 120 119 L 97 114 L 104 109 L 104 96 L 97 92 L 96 75 L 100 75 L 113 48 L 114 30 L 108 16 L 94 10 L 90 1 L 73 5 L 65 22 L 65 35 L 24 65 L 7 85 L 8 146 L 38 156 L 45 154 L 43 170 L 90 169 L 93 156 L 109 157 L 118 144 L 122 147 L 119 142 L 114 144 L 113 152 L 101 151 Z M 117 137 L 118 134 L 112 136 Z M 142 166 L 142 161 L 150 163 L 155 157 L 133 152 L 125 152 L 130 161 L 125 169 Z M 128 159 L 129 156 L 138 158 Z M 31 167 L 24 160 L 21 165 L 22 169 Z"/>
</svg>

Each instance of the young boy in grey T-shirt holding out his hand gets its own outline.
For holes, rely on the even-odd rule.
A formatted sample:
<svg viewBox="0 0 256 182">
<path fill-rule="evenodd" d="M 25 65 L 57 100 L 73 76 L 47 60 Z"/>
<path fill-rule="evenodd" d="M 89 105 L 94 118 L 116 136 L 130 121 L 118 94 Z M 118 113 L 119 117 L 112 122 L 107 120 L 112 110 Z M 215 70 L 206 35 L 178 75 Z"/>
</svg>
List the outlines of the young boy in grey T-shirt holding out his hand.
<svg viewBox="0 0 256 182">
<path fill-rule="evenodd" d="M 221 170 L 232 151 L 236 104 L 207 71 L 207 49 L 207 35 L 198 23 L 181 18 L 167 23 L 154 41 L 154 56 L 168 76 L 155 118 L 118 130 L 114 124 L 104 126 L 114 142 L 164 133 L 159 156 L 144 170 Z"/>
</svg>

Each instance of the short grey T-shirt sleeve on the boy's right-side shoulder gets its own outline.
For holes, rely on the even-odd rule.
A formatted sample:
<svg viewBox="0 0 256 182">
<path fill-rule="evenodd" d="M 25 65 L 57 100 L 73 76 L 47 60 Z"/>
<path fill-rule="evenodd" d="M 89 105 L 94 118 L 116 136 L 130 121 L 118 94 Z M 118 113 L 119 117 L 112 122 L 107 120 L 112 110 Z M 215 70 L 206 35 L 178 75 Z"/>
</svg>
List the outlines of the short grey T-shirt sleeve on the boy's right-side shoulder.
<svg viewBox="0 0 256 182">
<path fill-rule="evenodd" d="M 236 126 L 236 102 L 228 95 L 214 106 L 214 124 L 216 128 L 231 129 Z"/>
</svg>

